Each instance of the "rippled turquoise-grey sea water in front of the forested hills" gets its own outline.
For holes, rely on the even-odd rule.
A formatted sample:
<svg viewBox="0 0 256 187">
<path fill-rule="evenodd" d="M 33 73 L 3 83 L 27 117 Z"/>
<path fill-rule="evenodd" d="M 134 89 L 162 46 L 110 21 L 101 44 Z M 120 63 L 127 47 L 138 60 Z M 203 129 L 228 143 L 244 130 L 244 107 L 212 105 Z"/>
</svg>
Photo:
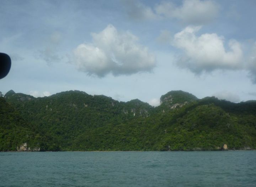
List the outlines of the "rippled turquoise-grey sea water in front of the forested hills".
<svg viewBox="0 0 256 187">
<path fill-rule="evenodd" d="M 0 186 L 256 186 L 256 151 L 0 152 Z"/>
</svg>

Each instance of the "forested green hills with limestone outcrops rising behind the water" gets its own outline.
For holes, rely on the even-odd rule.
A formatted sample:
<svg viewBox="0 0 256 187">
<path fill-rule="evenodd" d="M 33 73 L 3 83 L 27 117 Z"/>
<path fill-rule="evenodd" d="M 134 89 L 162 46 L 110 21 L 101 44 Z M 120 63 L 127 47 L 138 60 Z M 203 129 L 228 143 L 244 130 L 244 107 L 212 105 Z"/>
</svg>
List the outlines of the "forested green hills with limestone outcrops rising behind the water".
<svg viewBox="0 0 256 187">
<path fill-rule="evenodd" d="M 0 151 L 178 151 L 256 148 L 256 102 L 170 91 L 138 99 L 66 91 L 0 97 Z"/>
</svg>

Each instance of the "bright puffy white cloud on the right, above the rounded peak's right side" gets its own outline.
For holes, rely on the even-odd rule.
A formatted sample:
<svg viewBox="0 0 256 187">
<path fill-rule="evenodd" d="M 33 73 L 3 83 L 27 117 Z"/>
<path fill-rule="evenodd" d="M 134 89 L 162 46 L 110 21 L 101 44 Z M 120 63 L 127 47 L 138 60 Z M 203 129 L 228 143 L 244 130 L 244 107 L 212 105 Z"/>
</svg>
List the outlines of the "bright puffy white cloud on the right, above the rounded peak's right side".
<svg viewBox="0 0 256 187">
<path fill-rule="evenodd" d="M 229 49 L 225 49 L 224 37 L 215 33 L 196 35 L 201 27 L 186 27 L 174 35 L 172 45 L 183 51 L 177 62 L 180 67 L 192 72 L 211 72 L 215 69 L 239 69 L 243 57 L 238 41 L 229 40 Z"/>
</svg>

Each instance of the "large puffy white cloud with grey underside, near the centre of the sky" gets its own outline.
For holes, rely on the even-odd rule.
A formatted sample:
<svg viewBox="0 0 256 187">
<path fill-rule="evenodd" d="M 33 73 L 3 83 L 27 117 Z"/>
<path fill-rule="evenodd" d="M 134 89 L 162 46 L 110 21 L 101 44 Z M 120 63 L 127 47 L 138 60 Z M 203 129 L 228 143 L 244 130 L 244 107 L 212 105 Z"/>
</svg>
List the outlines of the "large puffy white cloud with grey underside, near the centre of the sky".
<svg viewBox="0 0 256 187">
<path fill-rule="evenodd" d="M 130 32 L 120 33 L 111 24 L 100 33 L 92 33 L 92 43 L 80 44 L 74 50 L 74 60 L 79 70 L 104 77 L 150 72 L 155 57 L 138 44 L 138 38 Z"/>
</svg>

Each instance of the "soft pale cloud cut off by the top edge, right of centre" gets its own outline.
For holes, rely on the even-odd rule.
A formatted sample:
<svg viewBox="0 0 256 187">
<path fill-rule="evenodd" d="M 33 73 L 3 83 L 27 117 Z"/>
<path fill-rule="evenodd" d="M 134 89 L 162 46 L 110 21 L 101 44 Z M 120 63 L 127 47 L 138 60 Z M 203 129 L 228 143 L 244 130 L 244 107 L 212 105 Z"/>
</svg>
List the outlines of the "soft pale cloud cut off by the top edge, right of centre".
<svg viewBox="0 0 256 187">
<path fill-rule="evenodd" d="M 204 24 L 218 16 L 219 6 L 211 0 L 183 0 L 181 6 L 172 2 L 161 2 L 155 7 L 158 15 L 177 18 L 189 24 Z"/>
</svg>

